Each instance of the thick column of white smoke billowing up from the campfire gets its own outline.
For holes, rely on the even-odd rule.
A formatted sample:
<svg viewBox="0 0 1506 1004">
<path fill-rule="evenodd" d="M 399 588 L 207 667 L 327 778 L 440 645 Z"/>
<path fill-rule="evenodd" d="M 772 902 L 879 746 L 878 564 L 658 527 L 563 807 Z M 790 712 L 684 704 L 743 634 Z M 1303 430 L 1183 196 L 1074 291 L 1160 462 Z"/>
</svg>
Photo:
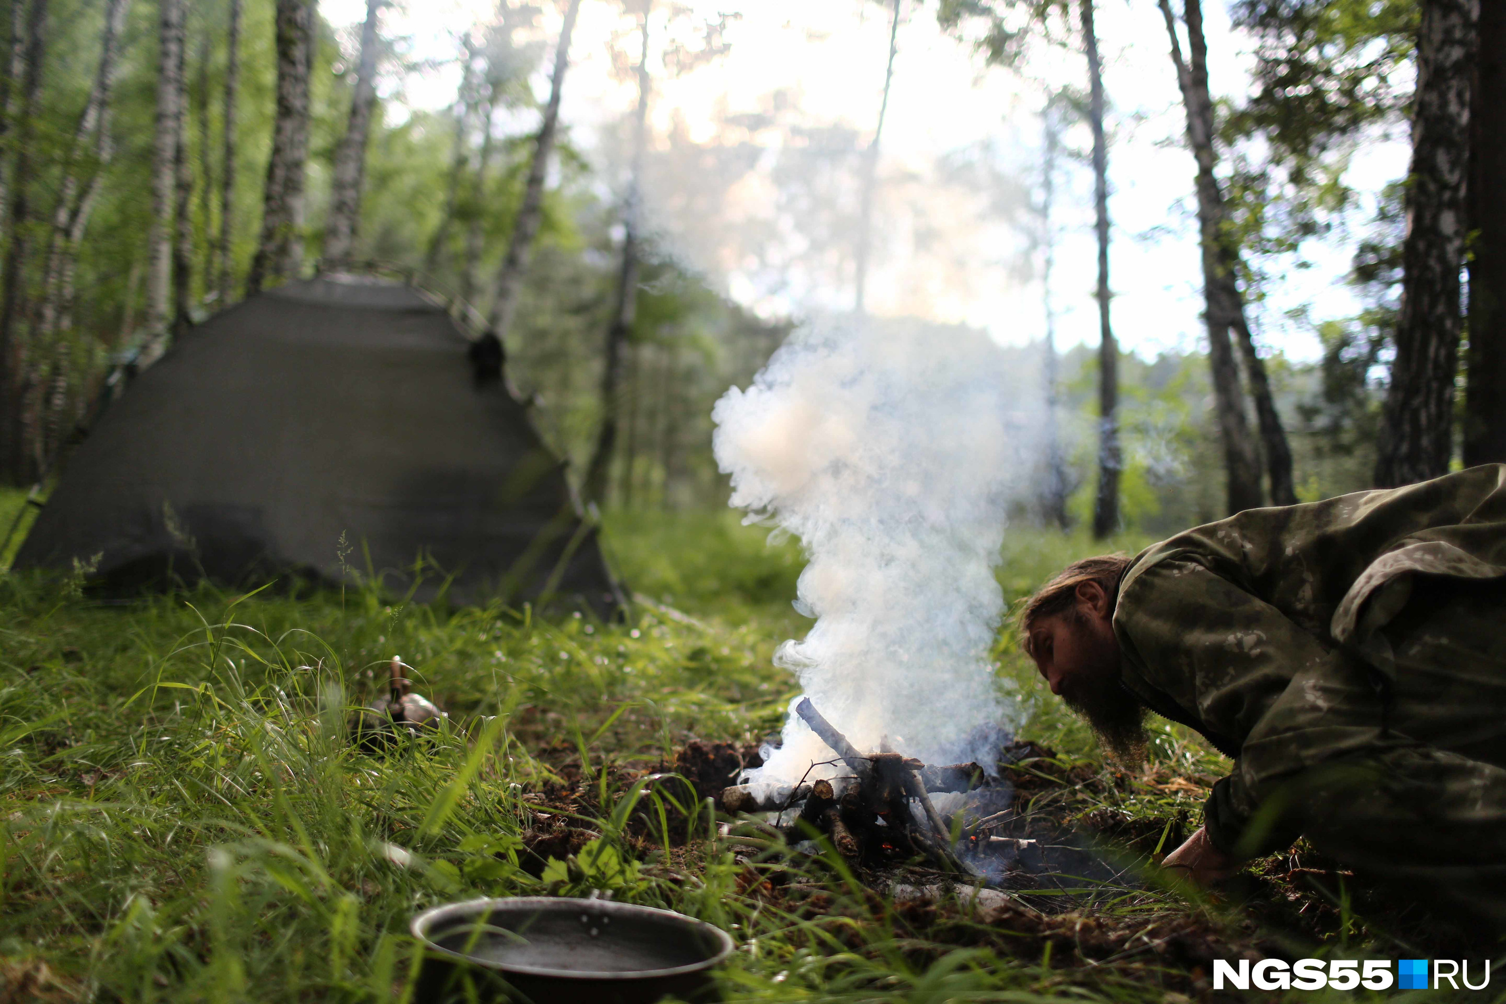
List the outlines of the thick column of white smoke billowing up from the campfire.
<svg viewBox="0 0 1506 1004">
<path fill-rule="evenodd" d="M 980 331 L 833 319 L 798 330 L 712 411 L 730 504 L 809 555 L 795 607 L 816 623 L 776 662 L 858 750 L 989 765 L 1018 724 L 988 653 L 1006 503 L 1035 456 L 1021 418 L 1038 411 L 1033 376 Z M 765 754 L 759 787 L 833 759 L 794 713 Z"/>
</svg>

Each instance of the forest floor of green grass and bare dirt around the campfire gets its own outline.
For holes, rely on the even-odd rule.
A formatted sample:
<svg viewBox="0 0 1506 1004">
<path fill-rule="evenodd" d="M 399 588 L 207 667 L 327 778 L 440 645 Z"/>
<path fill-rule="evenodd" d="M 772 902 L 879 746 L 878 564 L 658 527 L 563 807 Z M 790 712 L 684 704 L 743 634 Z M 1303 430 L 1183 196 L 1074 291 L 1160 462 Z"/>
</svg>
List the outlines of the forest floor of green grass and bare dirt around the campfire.
<svg viewBox="0 0 1506 1004">
<path fill-rule="evenodd" d="M 1154 861 L 1227 762 L 1157 726 L 1143 768 L 1105 765 L 1008 629 L 1001 686 L 1039 744 L 1017 804 L 1111 879 L 985 899 L 720 835 L 702 799 L 777 732 L 794 683 L 770 656 L 809 623 L 798 551 L 764 536 L 611 518 L 623 625 L 370 589 L 111 607 L 0 575 L 0 1004 L 411 999 L 416 911 L 589 890 L 730 932 L 729 1001 L 1248 998 L 1211 989 L 1214 959 L 1426 954 L 1425 924 L 1301 849 L 1215 894 L 1169 884 Z M 1014 533 L 1000 581 L 1014 599 L 1092 549 Z M 393 655 L 450 720 L 376 757 L 345 723 Z"/>
</svg>

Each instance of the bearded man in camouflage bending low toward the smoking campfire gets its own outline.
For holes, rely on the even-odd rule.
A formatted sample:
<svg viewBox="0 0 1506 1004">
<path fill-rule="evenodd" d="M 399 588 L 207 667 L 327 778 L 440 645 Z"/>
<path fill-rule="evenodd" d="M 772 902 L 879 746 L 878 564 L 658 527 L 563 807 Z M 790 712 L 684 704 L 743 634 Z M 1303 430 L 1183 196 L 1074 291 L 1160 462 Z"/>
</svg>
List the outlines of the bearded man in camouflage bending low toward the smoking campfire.
<svg viewBox="0 0 1506 1004">
<path fill-rule="evenodd" d="M 1208 884 L 1304 835 L 1506 930 L 1506 465 L 1086 558 L 1020 626 L 1120 759 L 1146 710 L 1233 759 L 1167 867 Z"/>
</svg>

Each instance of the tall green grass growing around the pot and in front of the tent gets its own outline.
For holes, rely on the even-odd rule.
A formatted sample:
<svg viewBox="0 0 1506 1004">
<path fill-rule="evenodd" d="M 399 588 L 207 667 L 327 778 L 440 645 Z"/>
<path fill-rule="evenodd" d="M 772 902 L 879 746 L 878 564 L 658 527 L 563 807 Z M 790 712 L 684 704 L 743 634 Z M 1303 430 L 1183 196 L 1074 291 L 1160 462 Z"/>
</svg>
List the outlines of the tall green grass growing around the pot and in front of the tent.
<svg viewBox="0 0 1506 1004">
<path fill-rule="evenodd" d="M 777 727 L 794 685 L 770 655 L 804 622 L 798 551 L 765 536 L 720 515 L 613 519 L 613 558 L 654 604 L 622 625 L 370 590 L 101 607 L 77 583 L 0 577 L 0 998 L 402 1001 L 419 909 L 607 888 L 730 930 L 730 999 L 1161 999 L 1154 972 L 901 936 L 892 905 L 819 863 L 785 867 L 821 909 L 770 905 L 684 784 L 622 769 Z M 1020 592 L 1090 545 L 1017 546 L 1003 577 Z M 345 721 L 393 655 L 450 718 L 373 757 Z M 998 658 L 1035 706 L 1008 632 Z M 1089 754 L 1053 709 L 1033 738 Z M 535 878 L 529 793 L 563 760 L 587 792 L 569 822 L 596 840 Z"/>
</svg>

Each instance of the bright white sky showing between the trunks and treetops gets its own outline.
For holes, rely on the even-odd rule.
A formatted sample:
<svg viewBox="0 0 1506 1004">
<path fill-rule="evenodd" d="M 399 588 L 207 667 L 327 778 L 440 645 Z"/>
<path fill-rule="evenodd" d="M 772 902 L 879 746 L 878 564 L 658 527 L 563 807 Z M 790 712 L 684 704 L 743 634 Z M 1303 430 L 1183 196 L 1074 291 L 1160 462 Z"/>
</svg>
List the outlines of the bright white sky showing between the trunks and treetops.
<svg viewBox="0 0 1506 1004">
<path fill-rule="evenodd" d="M 364 17 L 363 0 L 322 0 L 321 14 L 334 26 Z M 770 95 L 783 90 L 798 101 L 803 120 L 845 122 L 872 135 L 883 96 L 889 56 L 889 5 L 873 0 L 758 0 L 755 3 L 690 0 L 690 17 L 736 14 L 729 21 L 730 50 L 721 59 L 679 78 L 658 74 L 652 120 L 664 134 L 679 123 L 690 140 L 726 138 L 729 116 L 770 107 Z M 550 0 L 538 42 L 553 45 L 560 20 Z M 657 38 L 666 33 L 670 5 L 660 0 Z M 437 62 L 456 48 L 467 26 L 485 21 L 492 0 L 408 0 L 389 11 L 384 30 L 408 36 L 414 54 Z M 631 21 L 613 0 L 584 0 L 571 47 L 562 120 L 572 141 L 587 152 L 611 158 L 611 126 L 636 102 L 631 80 L 613 72 L 610 51 L 625 45 Z M 1242 95 L 1251 65 L 1248 41 L 1230 30 L 1221 3 L 1206 5 L 1209 72 L 1215 95 Z M 1111 316 L 1120 345 L 1142 355 L 1164 349 L 1190 351 L 1202 337 L 1202 278 L 1193 203 L 1194 163 L 1182 145 L 1185 126 L 1167 38 L 1152 0 L 1099 0 L 1098 36 L 1105 60 L 1105 90 L 1113 102 L 1108 152 L 1110 218 L 1113 244 L 1110 283 Z M 1039 51 L 1039 50 L 1038 50 Z M 651 66 L 655 60 L 651 59 Z M 1033 74 L 1050 83 L 1081 84 L 1086 63 L 1080 53 L 1044 53 Z M 458 68 L 434 71 L 387 90 L 416 108 L 441 108 L 453 101 Z M 535 93 L 548 93 L 544 65 L 533 78 Z M 904 0 L 895 80 L 884 120 L 880 187 L 875 215 L 875 251 L 867 309 L 878 315 L 917 315 L 943 322 L 980 327 L 1001 343 L 1039 339 L 1045 331 L 1044 297 L 1038 269 L 1021 268 L 1024 244 L 1018 218 L 991 212 L 973 190 L 947 185 L 938 164 L 959 152 L 980 151 L 995 172 L 1038 182 L 1041 107 L 1039 83 L 985 68 L 965 41 L 941 32 L 934 5 Z M 535 119 L 529 119 L 529 116 Z M 508 128 L 530 131 L 536 114 L 526 113 Z M 777 148 L 777 131 L 741 137 Z M 1086 128 L 1066 137 L 1087 149 Z M 1376 141 L 1355 154 L 1351 184 L 1376 191 L 1407 167 L 1405 137 Z M 759 160 L 755 175 L 767 175 L 779 151 Z M 1096 248 L 1092 235 L 1092 176 L 1072 166 L 1059 176 L 1057 253 L 1051 300 L 1057 315 L 1059 346 L 1096 345 L 1098 312 L 1093 301 Z M 804 313 L 848 309 L 851 281 L 833 269 L 803 268 L 798 260 L 771 283 L 753 263 L 767 248 L 758 241 L 774 232 L 767 176 L 747 178 L 726 194 L 718 214 L 681 212 L 664 200 L 658 233 L 693 266 L 705 271 L 724 292 L 762 313 Z M 673 194 L 673 193 L 670 193 Z M 649 212 L 655 203 L 651 194 Z M 1355 220 L 1363 220 L 1361 208 Z M 761 236 L 762 235 L 762 236 Z M 1268 348 L 1297 360 L 1316 358 L 1321 346 L 1310 327 L 1286 313 L 1310 304 L 1316 318 L 1355 313 L 1357 301 L 1343 283 L 1354 233 L 1339 233 L 1328 244 L 1309 244 L 1307 268 L 1280 268 L 1270 300 L 1253 313 L 1258 337 Z M 767 269 L 765 269 L 767 271 Z"/>
</svg>

